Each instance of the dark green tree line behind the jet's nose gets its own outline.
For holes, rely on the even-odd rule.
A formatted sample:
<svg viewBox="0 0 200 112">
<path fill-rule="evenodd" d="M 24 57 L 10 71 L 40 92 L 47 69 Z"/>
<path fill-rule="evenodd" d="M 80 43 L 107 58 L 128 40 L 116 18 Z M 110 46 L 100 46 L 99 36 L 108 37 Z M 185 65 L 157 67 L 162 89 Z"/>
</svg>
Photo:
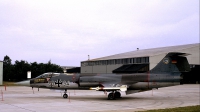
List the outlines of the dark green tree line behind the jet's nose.
<svg viewBox="0 0 200 112">
<path fill-rule="evenodd" d="M 12 64 L 12 60 L 9 56 L 4 56 L 3 60 L 3 80 L 4 81 L 21 81 L 27 79 L 27 72 L 31 71 L 31 77 L 37 77 L 46 72 L 62 73 L 63 69 L 56 64 L 48 63 L 28 63 L 25 60 L 16 60 Z"/>
</svg>

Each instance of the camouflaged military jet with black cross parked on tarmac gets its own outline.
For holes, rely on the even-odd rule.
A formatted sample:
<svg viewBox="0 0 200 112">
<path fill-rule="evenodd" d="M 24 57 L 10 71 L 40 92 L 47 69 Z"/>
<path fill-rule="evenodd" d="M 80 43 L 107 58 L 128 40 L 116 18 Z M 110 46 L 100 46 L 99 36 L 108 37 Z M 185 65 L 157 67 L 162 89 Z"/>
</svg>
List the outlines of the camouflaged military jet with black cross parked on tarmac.
<svg viewBox="0 0 200 112">
<path fill-rule="evenodd" d="M 44 73 L 36 78 L 17 84 L 34 88 L 64 90 L 96 90 L 110 92 L 108 99 L 120 98 L 120 91 L 126 94 L 152 90 L 153 88 L 180 84 L 182 72 L 190 71 L 186 53 L 170 52 L 150 71 L 133 74 L 66 74 Z"/>
</svg>

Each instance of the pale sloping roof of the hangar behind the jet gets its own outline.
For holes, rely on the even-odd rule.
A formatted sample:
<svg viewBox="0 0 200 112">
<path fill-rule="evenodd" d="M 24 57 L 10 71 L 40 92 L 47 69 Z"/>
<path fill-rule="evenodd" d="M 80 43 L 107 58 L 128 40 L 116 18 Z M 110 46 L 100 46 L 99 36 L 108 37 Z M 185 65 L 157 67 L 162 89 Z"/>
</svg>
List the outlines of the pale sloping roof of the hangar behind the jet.
<svg viewBox="0 0 200 112">
<path fill-rule="evenodd" d="M 133 57 L 150 57 L 150 56 L 155 56 L 155 55 L 168 53 L 168 52 L 179 52 L 180 50 L 183 50 L 183 49 L 197 47 L 197 46 L 199 46 L 199 44 L 200 43 L 136 50 L 136 51 L 131 51 L 131 52 L 115 54 L 115 55 L 111 55 L 111 56 L 91 59 L 89 61 L 133 58 Z"/>
</svg>

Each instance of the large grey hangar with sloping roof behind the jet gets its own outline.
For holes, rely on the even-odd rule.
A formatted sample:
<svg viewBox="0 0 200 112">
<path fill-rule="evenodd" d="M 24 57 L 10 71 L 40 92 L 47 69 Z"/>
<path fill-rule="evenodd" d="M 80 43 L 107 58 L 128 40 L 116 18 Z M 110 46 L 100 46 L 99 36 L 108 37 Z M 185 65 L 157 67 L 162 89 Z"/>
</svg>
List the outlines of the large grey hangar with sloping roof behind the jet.
<svg viewBox="0 0 200 112">
<path fill-rule="evenodd" d="M 143 49 L 111 56 L 86 60 L 81 62 L 81 73 L 142 73 L 151 70 L 156 66 L 159 61 L 169 52 L 182 52 L 187 53 L 187 59 L 192 69 L 190 76 L 196 79 L 191 81 L 199 81 L 199 68 L 200 68 L 200 43 L 168 46 L 160 48 Z M 184 75 L 183 77 L 186 77 Z M 193 77 L 193 78 L 194 78 Z M 187 77 L 188 79 L 188 77 Z M 198 80 L 197 80 L 198 79 Z M 195 81 L 194 81 L 195 80 Z M 184 82 L 184 81 L 183 81 Z M 199 81 L 200 82 L 200 81 Z"/>
</svg>

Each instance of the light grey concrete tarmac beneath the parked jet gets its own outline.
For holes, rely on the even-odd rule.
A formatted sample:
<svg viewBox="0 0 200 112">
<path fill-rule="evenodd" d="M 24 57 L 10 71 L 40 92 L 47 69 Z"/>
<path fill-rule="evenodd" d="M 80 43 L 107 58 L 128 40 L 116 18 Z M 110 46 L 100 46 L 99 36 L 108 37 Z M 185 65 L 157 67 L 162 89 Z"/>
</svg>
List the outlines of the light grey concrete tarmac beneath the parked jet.
<svg viewBox="0 0 200 112">
<path fill-rule="evenodd" d="M 2 97 L 2 92 L 3 97 Z M 0 112 L 134 112 L 200 105 L 200 85 L 179 85 L 107 100 L 101 91 L 63 91 L 31 87 L 0 86 Z M 2 99 L 3 98 L 3 99 Z"/>
</svg>

